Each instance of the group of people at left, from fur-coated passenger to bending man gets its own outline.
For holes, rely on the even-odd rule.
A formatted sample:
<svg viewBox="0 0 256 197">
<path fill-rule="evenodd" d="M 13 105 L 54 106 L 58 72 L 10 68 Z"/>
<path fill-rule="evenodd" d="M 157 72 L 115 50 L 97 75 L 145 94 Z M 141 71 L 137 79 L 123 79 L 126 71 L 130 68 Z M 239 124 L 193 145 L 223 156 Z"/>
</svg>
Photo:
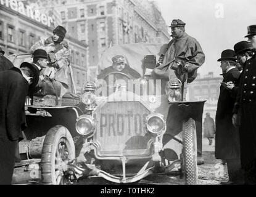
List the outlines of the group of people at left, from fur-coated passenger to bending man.
<svg viewBox="0 0 256 197">
<path fill-rule="evenodd" d="M 68 92 L 70 49 L 67 31 L 57 26 L 53 35 L 31 47 L 33 62 L 19 68 L 4 57 L 0 48 L 0 185 L 11 184 L 15 161 L 19 162 L 19 141 L 27 127 L 25 99 L 35 95 L 62 97 Z"/>
</svg>

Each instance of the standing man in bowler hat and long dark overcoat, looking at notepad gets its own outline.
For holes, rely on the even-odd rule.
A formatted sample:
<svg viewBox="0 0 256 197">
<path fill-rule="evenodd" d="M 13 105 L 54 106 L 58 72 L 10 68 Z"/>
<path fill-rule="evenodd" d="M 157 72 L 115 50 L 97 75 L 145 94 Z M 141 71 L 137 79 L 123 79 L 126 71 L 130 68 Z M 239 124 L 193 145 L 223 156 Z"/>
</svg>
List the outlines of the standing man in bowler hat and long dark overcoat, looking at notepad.
<svg viewBox="0 0 256 197">
<path fill-rule="evenodd" d="M 228 81 L 236 82 L 240 76 L 239 70 L 236 68 L 236 58 L 234 50 L 227 49 L 221 53 L 221 70 L 223 72 L 223 82 L 220 86 L 220 96 L 218 98 L 216 112 L 216 135 L 215 135 L 215 157 L 223 159 L 228 166 L 228 175 L 230 184 L 238 184 L 241 177 L 240 172 L 240 150 L 239 150 L 239 134 L 232 124 L 232 110 L 235 97 L 231 94 L 231 90 L 225 89 L 223 83 Z M 225 182 L 223 182 L 225 184 Z"/>
</svg>

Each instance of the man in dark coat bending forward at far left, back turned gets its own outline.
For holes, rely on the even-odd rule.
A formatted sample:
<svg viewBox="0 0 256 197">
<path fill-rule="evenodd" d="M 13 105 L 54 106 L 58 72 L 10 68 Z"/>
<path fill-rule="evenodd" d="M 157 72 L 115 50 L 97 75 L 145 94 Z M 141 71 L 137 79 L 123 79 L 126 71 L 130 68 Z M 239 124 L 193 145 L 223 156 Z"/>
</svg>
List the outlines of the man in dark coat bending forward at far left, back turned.
<svg viewBox="0 0 256 197">
<path fill-rule="evenodd" d="M 27 62 L 0 73 L 0 185 L 11 184 L 15 149 L 26 127 L 25 98 L 38 78 L 38 68 Z"/>
</svg>

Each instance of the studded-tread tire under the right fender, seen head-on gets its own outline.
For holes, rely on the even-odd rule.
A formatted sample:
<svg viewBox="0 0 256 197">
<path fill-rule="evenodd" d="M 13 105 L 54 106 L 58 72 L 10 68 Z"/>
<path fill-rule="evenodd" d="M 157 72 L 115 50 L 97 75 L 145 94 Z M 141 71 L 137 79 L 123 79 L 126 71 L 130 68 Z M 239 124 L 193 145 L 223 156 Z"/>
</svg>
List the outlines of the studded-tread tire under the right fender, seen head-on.
<svg viewBox="0 0 256 197">
<path fill-rule="evenodd" d="M 186 185 L 197 185 L 197 135 L 196 123 L 190 118 L 183 123 L 183 170 Z"/>
</svg>

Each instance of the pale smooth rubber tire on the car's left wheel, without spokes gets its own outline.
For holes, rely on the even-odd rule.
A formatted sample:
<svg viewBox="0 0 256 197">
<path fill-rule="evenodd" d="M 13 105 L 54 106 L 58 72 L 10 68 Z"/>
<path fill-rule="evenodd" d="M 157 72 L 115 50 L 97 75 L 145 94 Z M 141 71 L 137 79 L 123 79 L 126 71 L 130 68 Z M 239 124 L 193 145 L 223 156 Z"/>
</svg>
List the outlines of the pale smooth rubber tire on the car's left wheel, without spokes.
<svg viewBox="0 0 256 197">
<path fill-rule="evenodd" d="M 46 134 L 41 156 L 41 182 L 47 185 L 56 185 L 55 158 L 56 148 L 60 139 L 66 140 L 69 159 L 75 159 L 75 144 L 72 135 L 64 126 L 52 127 Z"/>
</svg>

